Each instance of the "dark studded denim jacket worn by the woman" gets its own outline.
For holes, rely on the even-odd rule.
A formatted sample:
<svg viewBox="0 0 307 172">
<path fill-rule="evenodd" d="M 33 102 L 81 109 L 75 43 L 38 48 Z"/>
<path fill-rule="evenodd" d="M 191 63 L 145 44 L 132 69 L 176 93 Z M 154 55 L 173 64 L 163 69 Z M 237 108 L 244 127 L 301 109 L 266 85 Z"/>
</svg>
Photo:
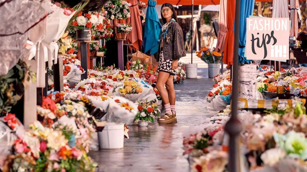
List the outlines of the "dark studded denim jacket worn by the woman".
<svg viewBox="0 0 307 172">
<path fill-rule="evenodd" d="M 159 61 L 159 54 L 161 52 L 161 40 L 163 39 L 163 58 L 164 60 L 178 60 L 185 57 L 185 47 L 183 43 L 183 33 L 180 25 L 176 21 L 171 21 L 166 27 L 167 33 L 163 35 L 161 32 L 160 43 L 157 55 Z"/>
</svg>

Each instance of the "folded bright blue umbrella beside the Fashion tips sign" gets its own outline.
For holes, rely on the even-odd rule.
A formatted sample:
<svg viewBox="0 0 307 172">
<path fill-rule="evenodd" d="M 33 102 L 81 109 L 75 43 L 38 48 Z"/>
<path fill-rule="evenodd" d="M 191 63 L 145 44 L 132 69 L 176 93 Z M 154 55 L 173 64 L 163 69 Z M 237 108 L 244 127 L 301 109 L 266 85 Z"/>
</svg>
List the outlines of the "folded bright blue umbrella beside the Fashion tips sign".
<svg viewBox="0 0 307 172">
<path fill-rule="evenodd" d="M 240 36 L 239 36 L 239 64 L 251 63 L 244 57 L 246 43 L 246 18 L 253 15 L 255 0 L 241 0 Z"/>
</svg>

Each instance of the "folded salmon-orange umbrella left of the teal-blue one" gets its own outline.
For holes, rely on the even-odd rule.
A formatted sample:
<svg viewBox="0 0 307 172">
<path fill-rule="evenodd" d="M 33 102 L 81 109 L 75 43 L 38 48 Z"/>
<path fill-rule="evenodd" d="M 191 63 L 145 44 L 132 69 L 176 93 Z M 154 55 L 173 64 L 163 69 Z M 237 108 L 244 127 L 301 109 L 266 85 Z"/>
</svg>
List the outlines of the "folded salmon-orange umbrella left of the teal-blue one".
<svg viewBox="0 0 307 172">
<path fill-rule="evenodd" d="M 127 43 L 132 44 L 135 50 L 139 50 L 142 48 L 143 34 L 138 0 L 128 0 L 128 2 L 132 5 L 130 6 L 131 16 L 127 19 L 127 24 L 131 24 L 132 30 L 127 36 Z"/>
</svg>

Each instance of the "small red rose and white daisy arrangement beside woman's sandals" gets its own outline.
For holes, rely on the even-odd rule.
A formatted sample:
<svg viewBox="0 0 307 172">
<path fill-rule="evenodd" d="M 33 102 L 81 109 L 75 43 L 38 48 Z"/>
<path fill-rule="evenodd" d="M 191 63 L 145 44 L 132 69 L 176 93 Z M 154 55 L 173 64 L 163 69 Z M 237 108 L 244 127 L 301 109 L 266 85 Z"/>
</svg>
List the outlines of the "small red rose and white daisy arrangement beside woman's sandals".
<svg viewBox="0 0 307 172">
<path fill-rule="evenodd" d="M 159 116 L 160 110 L 158 108 L 157 100 L 153 100 L 150 102 L 138 102 L 138 114 L 134 118 L 136 120 L 145 120 L 154 122 L 154 118 Z"/>
</svg>

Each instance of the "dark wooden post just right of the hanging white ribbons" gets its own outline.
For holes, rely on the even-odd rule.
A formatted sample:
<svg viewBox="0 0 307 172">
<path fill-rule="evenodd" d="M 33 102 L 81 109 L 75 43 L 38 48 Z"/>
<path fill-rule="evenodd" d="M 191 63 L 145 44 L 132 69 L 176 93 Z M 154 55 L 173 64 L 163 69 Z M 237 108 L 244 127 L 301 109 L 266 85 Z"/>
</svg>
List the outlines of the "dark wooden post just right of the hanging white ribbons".
<svg viewBox="0 0 307 172">
<path fill-rule="evenodd" d="M 57 63 L 53 65 L 53 81 L 54 91 L 64 91 L 62 56 L 58 56 Z"/>
</svg>

